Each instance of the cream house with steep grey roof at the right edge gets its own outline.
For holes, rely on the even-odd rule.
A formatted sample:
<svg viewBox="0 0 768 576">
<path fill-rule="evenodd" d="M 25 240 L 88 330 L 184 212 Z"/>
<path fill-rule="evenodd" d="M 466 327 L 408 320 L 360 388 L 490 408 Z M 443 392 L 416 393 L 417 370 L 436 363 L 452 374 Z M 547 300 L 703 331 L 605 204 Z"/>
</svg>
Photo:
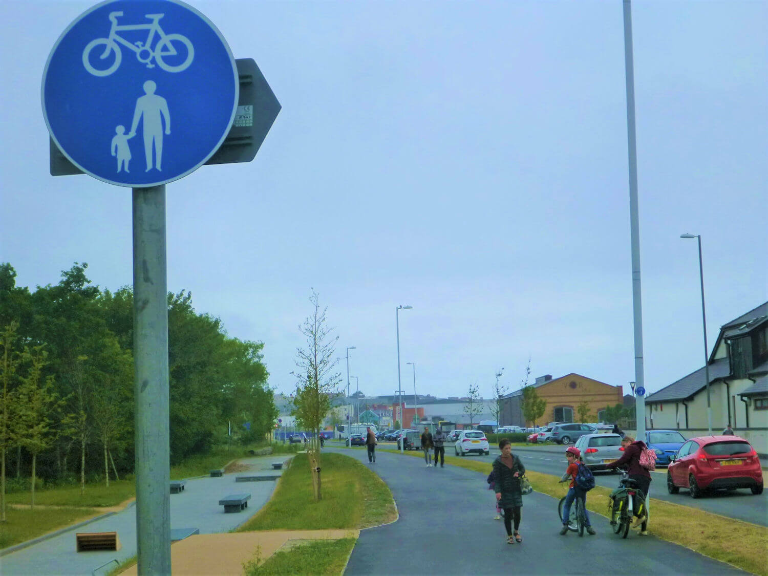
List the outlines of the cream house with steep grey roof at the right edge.
<svg viewBox="0 0 768 576">
<path fill-rule="evenodd" d="M 707 365 L 713 433 L 730 422 L 768 453 L 768 302 L 720 326 Z M 645 416 L 648 428 L 706 433 L 704 367 L 647 396 Z"/>
</svg>

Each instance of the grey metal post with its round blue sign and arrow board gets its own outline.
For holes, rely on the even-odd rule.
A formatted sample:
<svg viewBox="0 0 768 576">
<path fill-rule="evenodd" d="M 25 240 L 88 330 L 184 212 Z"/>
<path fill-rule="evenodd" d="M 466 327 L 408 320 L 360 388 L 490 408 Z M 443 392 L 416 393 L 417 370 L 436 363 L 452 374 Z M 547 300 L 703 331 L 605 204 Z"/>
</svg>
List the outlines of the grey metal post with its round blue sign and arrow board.
<svg viewBox="0 0 768 576">
<path fill-rule="evenodd" d="M 41 96 L 51 175 L 133 189 L 137 571 L 170 574 L 165 184 L 253 160 L 280 103 L 256 63 L 236 64 L 180 0 L 110 0 L 81 14 L 48 56 Z"/>
</svg>

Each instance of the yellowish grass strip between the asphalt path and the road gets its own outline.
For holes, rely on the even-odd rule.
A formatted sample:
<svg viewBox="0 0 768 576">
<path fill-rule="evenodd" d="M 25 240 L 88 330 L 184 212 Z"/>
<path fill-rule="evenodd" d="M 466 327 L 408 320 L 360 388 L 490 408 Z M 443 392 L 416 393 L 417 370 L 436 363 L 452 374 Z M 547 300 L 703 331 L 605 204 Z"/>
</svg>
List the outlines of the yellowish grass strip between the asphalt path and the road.
<svg viewBox="0 0 768 576">
<path fill-rule="evenodd" d="M 397 450 L 384 452 L 399 453 Z M 422 452 L 406 454 L 422 457 Z M 478 462 L 459 456 L 445 456 L 445 462 L 482 472 L 484 475 L 488 475 L 492 468 L 492 461 Z M 558 500 L 567 492 L 566 485 L 560 484 L 560 478 L 557 476 L 532 471 L 526 472 L 526 475 L 536 492 L 548 494 Z M 661 489 L 666 489 L 663 483 L 657 482 L 658 485 Z M 653 484 L 651 488 L 654 488 Z M 607 518 L 608 496 L 611 492 L 610 488 L 602 486 L 592 488 L 587 497 L 587 509 Z M 685 546 L 715 560 L 728 562 L 753 574 L 768 576 L 768 528 L 765 526 L 725 518 L 698 508 L 656 498 L 650 498 L 650 501 L 648 529 L 657 538 Z"/>
</svg>

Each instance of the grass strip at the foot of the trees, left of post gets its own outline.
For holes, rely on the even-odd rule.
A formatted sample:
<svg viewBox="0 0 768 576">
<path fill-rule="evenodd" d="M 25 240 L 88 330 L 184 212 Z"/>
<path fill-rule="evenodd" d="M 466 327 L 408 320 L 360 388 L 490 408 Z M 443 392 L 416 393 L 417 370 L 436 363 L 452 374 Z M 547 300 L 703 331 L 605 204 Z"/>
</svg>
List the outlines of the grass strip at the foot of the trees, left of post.
<svg viewBox="0 0 768 576">
<path fill-rule="evenodd" d="M 85 492 L 80 494 L 80 486 L 51 488 L 35 491 L 35 506 L 76 506 L 81 508 L 103 508 L 117 506 L 136 495 L 136 484 L 131 479 L 115 480 L 109 483 L 86 484 Z M 14 492 L 6 495 L 9 504 L 30 504 L 29 492 Z"/>
</svg>

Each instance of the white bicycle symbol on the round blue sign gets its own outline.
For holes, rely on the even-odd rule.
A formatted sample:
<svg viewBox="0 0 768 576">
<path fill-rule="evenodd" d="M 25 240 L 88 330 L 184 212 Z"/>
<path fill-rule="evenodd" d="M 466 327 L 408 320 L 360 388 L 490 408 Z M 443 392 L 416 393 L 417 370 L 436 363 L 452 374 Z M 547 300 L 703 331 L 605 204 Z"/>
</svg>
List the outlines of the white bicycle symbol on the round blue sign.
<svg viewBox="0 0 768 576">
<path fill-rule="evenodd" d="M 123 53 L 120 49 L 120 45 L 124 45 L 129 50 L 136 52 L 136 58 L 142 64 L 146 64 L 147 68 L 154 68 L 152 64 L 152 58 L 157 61 L 157 65 L 167 72 L 180 72 L 189 68 L 194 58 L 194 48 L 189 38 L 180 34 L 166 34 L 163 28 L 160 27 L 160 19 L 164 14 L 147 14 L 146 17 L 152 22 L 150 24 L 131 24 L 131 25 L 118 25 L 118 17 L 122 16 L 123 12 L 110 12 L 109 19 L 112 22 L 112 26 L 109 31 L 108 38 L 96 38 L 88 42 L 83 50 L 83 65 L 94 76 L 108 76 L 116 71 L 120 67 L 120 63 L 123 59 Z M 128 30 L 148 30 L 146 41 L 137 41 L 134 44 L 121 38 L 118 35 L 118 31 Z M 157 40 L 157 44 L 154 46 L 154 50 L 151 48 L 152 41 L 157 35 L 160 39 Z M 98 68 L 91 64 L 91 51 L 98 50 L 104 47 L 104 51 L 101 55 L 98 55 L 98 61 L 95 63 L 98 65 L 101 61 L 104 65 Z M 181 56 L 187 53 L 187 58 L 181 59 Z M 179 56 L 179 58 L 173 58 Z M 166 62 L 164 58 L 167 58 L 171 63 Z M 176 62 L 180 61 L 180 64 Z"/>
</svg>

